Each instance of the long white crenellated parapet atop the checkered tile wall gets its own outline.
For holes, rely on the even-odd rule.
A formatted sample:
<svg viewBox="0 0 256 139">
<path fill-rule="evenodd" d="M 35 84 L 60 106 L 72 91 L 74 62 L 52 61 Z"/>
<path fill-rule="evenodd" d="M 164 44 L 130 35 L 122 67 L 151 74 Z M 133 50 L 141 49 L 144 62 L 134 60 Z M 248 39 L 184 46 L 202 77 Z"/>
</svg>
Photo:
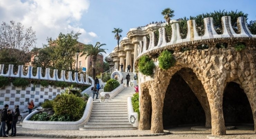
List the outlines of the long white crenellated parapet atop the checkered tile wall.
<svg viewBox="0 0 256 139">
<path fill-rule="evenodd" d="M 18 71 L 15 72 L 16 74 L 14 74 L 13 72 L 13 66 L 12 64 L 9 65 L 8 67 L 8 71 L 6 74 L 3 73 L 3 69 L 4 69 L 3 64 L 0 64 L 0 76 L 5 76 L 5 77 L 20 77 L 20 78 L 28 78 L 28 79 L 40 79 L 40 80 L 52 80 L 52 81 L 63 81 L 63 82 L 72 82 L 72 83 L 79 83 L 79 84 L 88 84 L 91 85 L 91 83 L 88 82 L 88 78 L 91 78 L 89 76 L 86 76 L 86 81 L 84 81 L 84 74 L 80 74 L 80 79 L 78 79 L 78 73 L 74 73 L 75 79 L 72 79 L 72 72 L 68 72 L 68 78 L 66 79 L 65 77 L 65 71 L 61 71 L 61 77 L 58 77 L 58 70 L 54 70 L 53 72 L 53 76 L 50 75 L 50 68 L 46 68 L 45 69 L 45 76 L 42 76 L 42 68 L 41 67 L 37 67 L 37 73 L 36 76 L 33 76 L 32 74 L 32 70 L 33 67 L 32 66 L 28 66 L 27 68 L 27 75 L 23 74 L 23 65 L 19 65 L 18 66 Z M 92 80 L 92 79 L 91 79 Z M 93 81 L 93 80 L 92 80 Z"/>
</svg>

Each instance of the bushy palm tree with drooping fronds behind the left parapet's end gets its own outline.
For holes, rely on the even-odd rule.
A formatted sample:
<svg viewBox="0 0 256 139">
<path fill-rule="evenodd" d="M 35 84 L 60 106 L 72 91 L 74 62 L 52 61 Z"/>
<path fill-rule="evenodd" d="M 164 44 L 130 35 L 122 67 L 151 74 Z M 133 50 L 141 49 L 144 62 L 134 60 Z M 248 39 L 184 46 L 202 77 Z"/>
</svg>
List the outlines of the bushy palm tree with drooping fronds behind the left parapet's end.
<svg viewBox="0 0 256 139">
<path fill-rule="evenodd" d="M 82 49 L 83 53 L 81 54 L 81 56 L 86 55 L 85 58 L 87 58 L 88 56 L 91 56 L 91 58 L 92 58 L 92 78 L 93 78 L 93 80 L 95 80 L 95 75 L 96 75 L 95 64 L 96 64 L 97 57 L 98 57 L 98 55 L 102 55 L 101 52 L 105 52 L 105 54 L 106 54 L 105 50 L 108 50 L 108 49 L 100 48 L 101 46 L 105 46 L 105 45 L 106 44 L 100 44 L 100 42 L 96 42 L 95 46 L 93 46 L 92 44 L 85 44 L 83 46 L 83 49 Z"/>
</svg>

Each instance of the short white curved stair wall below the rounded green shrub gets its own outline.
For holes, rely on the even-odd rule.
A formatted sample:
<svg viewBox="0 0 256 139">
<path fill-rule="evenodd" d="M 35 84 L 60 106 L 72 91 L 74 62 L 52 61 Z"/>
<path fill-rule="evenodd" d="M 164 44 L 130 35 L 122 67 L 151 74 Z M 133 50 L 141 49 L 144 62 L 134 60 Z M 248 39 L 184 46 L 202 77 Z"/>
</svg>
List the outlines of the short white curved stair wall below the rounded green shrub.
<svg viewBox="0 0 256 139">
<path fill-rule="evenodd" d="M 115 88 L 111 92 L 101 92 L 100 93 L 100 102 L 108 102 L 114 98 L 121 90 L 123 90 L 123 84 L 120 84 L 117 88 Z"/>
</svg>

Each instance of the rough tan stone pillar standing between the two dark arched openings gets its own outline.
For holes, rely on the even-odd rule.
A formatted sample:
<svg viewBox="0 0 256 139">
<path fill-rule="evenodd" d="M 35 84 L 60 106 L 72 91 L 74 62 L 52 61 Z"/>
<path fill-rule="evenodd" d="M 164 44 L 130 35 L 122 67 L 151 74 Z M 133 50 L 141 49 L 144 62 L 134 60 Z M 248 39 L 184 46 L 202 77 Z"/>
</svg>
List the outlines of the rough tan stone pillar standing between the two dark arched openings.
<svg viewBox="0 0 256 139">
<path fill-rule="evenodd" d="M 222 109 L 223 91 L 226 87 L 225 77 L 215 78 L 216 76 L 205 78 L 202 84 L 211 108 L 212 134 L 225 135 L 226 127 Z"/>
</svg>

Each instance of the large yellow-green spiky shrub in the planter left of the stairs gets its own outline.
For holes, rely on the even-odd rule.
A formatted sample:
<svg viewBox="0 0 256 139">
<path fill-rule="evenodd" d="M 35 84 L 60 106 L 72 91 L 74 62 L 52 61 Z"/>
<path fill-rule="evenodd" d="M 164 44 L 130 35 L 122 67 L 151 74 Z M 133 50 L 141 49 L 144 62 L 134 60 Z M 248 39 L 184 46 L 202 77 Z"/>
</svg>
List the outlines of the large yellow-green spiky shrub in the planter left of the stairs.
<svg viewBox="0 0 256 139">
<path fill-rule="evenodd" d="M 69 115 L 70 120 L 77 121 L 83 116 L 85 101 L 73 94 L 62 93 L 52 102 L 56 115 Z"/>
</svg>

